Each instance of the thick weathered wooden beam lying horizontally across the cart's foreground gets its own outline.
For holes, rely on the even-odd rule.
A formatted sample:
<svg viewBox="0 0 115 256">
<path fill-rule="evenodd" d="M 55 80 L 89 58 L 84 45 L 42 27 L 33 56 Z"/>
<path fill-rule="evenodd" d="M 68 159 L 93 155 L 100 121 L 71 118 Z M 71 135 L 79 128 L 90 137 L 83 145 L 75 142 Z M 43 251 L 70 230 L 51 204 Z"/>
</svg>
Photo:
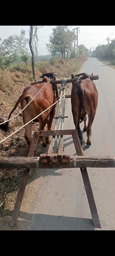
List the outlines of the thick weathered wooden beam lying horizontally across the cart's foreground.
<svg viewBox="0 0 115 256">
<path fill-rule="evenodd" d="M 1 157 L 0 169 L 63 169 L 74 168 L 73 157 L 69 163 L 42 164 L 39 157 Z M 115 156 L 76 156 L 76 168 L 114 168 Z"/>
</svg>

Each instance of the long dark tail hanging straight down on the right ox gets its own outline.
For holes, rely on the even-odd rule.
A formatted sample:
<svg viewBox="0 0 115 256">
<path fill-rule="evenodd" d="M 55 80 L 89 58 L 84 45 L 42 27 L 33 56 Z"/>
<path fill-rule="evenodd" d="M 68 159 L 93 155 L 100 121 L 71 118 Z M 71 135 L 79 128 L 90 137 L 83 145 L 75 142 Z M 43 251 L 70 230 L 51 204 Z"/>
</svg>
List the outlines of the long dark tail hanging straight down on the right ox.
<svg viewBox="0 0 115 256">
<path fill-rule="evenodd" d="M 85 145 L 86 143 L 85 143 L 85 140 L 84 140 L 84 138 L 83 138 L 83 134 L 82 134 L 81 129 L 80 129 L 80 119 L 81 119 L 81 112 L 82 112 L 82 108 L 83 108 L 83 95 L 84 95 L 84 89 L 83 89 L 81 86 L 78 87 L 77 94 L 78 94 L 79 101 L 80 101 L 80 105 L 79 105 L 79 116 L 78 116 L 78 124 L 77 124 L 77 128 L 78 128 L 78 137 L 79 137 L 79 140 L 80 140 L 80 145 L 81 145 L 81 147 L 84 147 L 84 145 Z"/>
</svg>

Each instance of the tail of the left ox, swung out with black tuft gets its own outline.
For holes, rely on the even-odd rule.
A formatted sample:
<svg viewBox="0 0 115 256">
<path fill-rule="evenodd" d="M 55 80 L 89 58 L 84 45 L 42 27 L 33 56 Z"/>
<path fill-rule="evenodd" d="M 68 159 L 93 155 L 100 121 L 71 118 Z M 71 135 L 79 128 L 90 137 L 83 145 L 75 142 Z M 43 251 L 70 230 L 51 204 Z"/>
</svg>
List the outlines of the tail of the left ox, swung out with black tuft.
<svg viewBox="0 0 115 256">
<path fill-rule="evenodd" d="M 18 101 L 17 101 L 16 104 L 15 104 L 15 107 L 11 110 L 11 113 L 10 113 L 10 115 L 8 116 L 8 120 L 10 119 L 10 117 L 11 117 L 12 113 L 15 111 L 15 109 L 18 107 L 19 103 L 20 103 L 22 100 L 26 99 L 27 97 L 30 97 L 30 95 L 28 95 L 27 92 L 24 92 L 24 93 L 19 97 Z M 9 121 L 8 121 L 7 123 L 5 123 L 5 124 L 1 124 L 1 125 L 0 125 L 0 129 L 1 129 L 2 131 L 4 131 L 4 132 L 8 132 L 8 130 L 9 130 L 8 125 L 9 125 Z"/>
</svg>

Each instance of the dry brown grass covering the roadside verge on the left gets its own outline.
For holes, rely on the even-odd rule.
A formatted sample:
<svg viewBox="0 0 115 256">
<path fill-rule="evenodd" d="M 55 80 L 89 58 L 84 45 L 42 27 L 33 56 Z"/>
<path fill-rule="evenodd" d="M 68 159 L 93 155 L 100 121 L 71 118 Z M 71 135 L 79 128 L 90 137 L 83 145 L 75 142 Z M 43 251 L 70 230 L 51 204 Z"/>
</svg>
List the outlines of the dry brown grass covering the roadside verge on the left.
<svg viewBox="0 0 115 256">
<path fill-rule="evenodd" d="M 62 74 L 65 77 L 70 77 L 71 73 L 76 71 L 76 73 L 81 68 L 85 58 L 81 60 L 66 60 L 65 63 L 60 63 L 59 60 L 56 60 L 55 66 L 51 66 L 48 61 L 41 62 L 38 67 L 36 67 L 36 75 L 39 79 L 39 76 L 44 72 L 55 72 L 57 74 Z M 61 78 L 62 76 L 57 76 Z M 27 68 L 22 65 L 19 68 L 19 71 L 15 69 L 11 70 L 0 70 L 0 116 L 8 117 L 11 109 L 14 107 L 19 96 L 22 94 L 25 86 L 30 85 L 32 79 L 32 70 L 30 66 Z M 71 86 L 71 85 L 70 85 Z M 70 92 L 69 92 L 70 94 Z M 20 110 L 20 106 L 16 109 L 15 113 L 17 114 Z M 52 123 L 52 128 L 54 127 L 55 120 Z M 11 120 L 9 123 L 10 131 L 9 134 L 17 130 L 22 126 L 22 116 L 18 116 L 15 120 Z M 38 131 L 39 124 L 32 125 L 32 131 Z M 46 129 L 46 127 L 45 127 Z M 4 132 L 0 132 L 0 140 L 4 138 Z M 47 148 L 42 147 L 41 140 L 38 141 L 36 147 L 36 156 L 40 156 L 42 153 L 48 151 Z M 28 147 L 26 140 L 24 139 L 24 129 L 21 132 L 15 134 L 10 139 L 6 140 L 0 144 L 0 156 L 27 156 Z M 12 170 L 0 170 L 0 216 L 4 217 L 6 221 L 6 216 L 11 216 L 11 211 L 13 210 L 14 203 L 17 196 L 17 190 L 22 177 L 22 170 L 12 169 Z M 23 205 L 26 206 L 28 203 L 28 194 L 31 191 L 31 186 L 33 181 L 36 179 L 36 170 L 31 170 L 28 185 L 26 188 L 25 198 L 23 200 Z M 4 224 L 3 224 L 4 226 Z M 2 226 L 2 228 L 3 228 Z M 0 229 L 2 229 L 0 227 Z M 3 229 L 2 229 L 3 230 Z"/>
</svg>

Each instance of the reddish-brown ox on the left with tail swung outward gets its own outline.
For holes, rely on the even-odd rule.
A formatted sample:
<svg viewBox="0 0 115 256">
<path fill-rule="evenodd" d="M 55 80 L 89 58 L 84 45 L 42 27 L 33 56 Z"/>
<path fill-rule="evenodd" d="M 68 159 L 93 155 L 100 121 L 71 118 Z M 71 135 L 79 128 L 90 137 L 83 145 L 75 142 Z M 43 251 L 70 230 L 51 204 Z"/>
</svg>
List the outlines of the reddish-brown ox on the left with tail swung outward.
<svg viewBox="0 0 115 256">
<path fill-rule="evenodd" d="M 47 76 L 47 73 L 45 75 Z M 16 102 L 15 107 L 12 109 L 8 119 L 10 119 L 11 114 L 17 108 L 19 103 L 21 105 L 21 109 L 23 109 L 39 92 L 42 86 L 50 81 L 49 78 L 46 76 L 43 77 L 42 84 L 27 86 L 24 89 L 22 95 L 19 97 L 19 100 Z M 53 73 L 52 73 L 52 76 L 53 76 Z M 29 121 L 31 121 L 33 118 L 41 114 L 45 109 L 49 108 L 55 102 L 56 102 L 56 97 L 54 95 L 52 85 L 49 83 L 42 88 L 41 92 L 34 98 L 34 100 L 27 106 L 27 108 L 23 110 L 22 114 L 23 114 L 24 124 L 27 124 Z M 52 108 L 49 108 L 46 112 L 44 112 L 41 116 L 39 116 L 37 119 L 34 120 L 34 122 L 40 122 L 39 131 L 43 131 L 46 124 L 48 125 L 48 131 L 50 131 L 52 120 L 55 115 L 55 108 L 56 108 L 56 105 L 54 105 Z M 1 125 L 0 128 L 4 131 L 7 131 L 8 123 L 9 122 L 7 122 L 5 125 Z M 27 140 L 27 144 L 29 148 L 32 141 L 31 126 L 32 126 L 32 122 L 27 124 L 27 126 L 25 126 L 25 139 Z M 42 146 L 46 147 L 46 143 L 49 143 L 49 137 L 46 137 L 46 140 L 44 137 L 41 137 L 41 139 L 42 139 Z"/>
</svg>

